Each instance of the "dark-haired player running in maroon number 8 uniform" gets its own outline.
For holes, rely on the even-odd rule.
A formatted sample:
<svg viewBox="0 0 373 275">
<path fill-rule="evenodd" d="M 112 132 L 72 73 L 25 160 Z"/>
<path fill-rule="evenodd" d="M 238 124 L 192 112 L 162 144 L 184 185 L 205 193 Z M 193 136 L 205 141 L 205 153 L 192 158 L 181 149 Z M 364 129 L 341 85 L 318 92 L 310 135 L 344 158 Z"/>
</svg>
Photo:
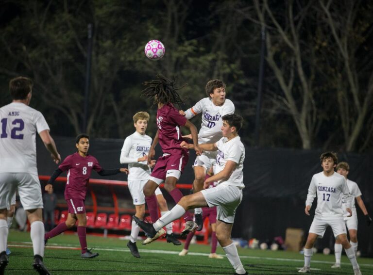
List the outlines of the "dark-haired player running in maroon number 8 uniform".
<svg viewBox="0 0 373 275">
<path fill-rule="evenodd" d="M 85 195 L 87 194 L 87 185 L 92 170 L 95 170 L 100 176 L 116 175 L 120 172 L 128 174 L 127 168 L 102 169 L 100 163 L 95 157 L 88 155 L 89 136 L 79 134 L 76 137 L 76 148 L 78 152 L 69 155 L 58 168 L 53 172 L 45 190 L 52 188 L 54 180 L 64 171 L 68 170 L 68 180 L 65 187 L 65 199 L 68 204 L 68 219 L 65 223 L 60 223 L 51 231 L 45 234 L 44 242 L 62 232 L 73 227 L 78 221 L 78 237 L 82 247 L 82 258 L 94 258 L 98 253 L 92 253 L 87 249 L 86 226 L 87 218 L 85 214 Z"/>
</svg>

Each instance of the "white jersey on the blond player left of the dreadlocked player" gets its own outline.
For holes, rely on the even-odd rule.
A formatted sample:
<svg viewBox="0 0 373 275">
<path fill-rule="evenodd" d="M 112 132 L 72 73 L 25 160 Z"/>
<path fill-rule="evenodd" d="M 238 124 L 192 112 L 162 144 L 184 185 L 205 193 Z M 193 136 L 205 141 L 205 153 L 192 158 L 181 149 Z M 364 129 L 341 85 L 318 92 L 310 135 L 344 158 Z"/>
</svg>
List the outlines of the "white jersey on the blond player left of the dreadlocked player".
<svg viewBox="0 0 373 275">
<path fill-rule="evenodd" d="M 152 138 L 134 132 L 126 137 L 120 153 L 120 163 L 128 163 L 128 180 L 146 180 L 151 173 L 148 162 L 137 162 L 137 159 L 149 154 Z"/>
</svg>

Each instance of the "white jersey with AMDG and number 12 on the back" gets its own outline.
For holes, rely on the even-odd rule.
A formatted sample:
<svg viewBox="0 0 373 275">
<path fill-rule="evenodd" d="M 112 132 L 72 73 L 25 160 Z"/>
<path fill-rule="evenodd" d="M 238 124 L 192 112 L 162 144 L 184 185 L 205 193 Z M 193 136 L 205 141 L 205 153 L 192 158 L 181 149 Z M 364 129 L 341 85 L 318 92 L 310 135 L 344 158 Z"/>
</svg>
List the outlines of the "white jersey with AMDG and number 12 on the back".
<svg viewBox="0 0 373 275">
<path fill-rule="evenodd" d="M 49 130 L 44 116 L 24 103 L 0 108 L 0 173 L 37 175 L 36 132 Z"/>
</svg>

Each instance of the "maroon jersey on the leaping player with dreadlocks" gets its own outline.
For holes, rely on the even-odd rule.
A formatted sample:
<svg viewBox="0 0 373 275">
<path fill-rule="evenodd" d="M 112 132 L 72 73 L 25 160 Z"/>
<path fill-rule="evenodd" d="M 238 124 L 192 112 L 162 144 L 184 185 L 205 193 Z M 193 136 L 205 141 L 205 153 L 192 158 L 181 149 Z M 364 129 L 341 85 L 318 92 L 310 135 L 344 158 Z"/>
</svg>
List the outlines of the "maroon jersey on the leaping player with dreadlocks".
<svg viewBox="0 0 373 275">
<path fill-rule="evenodd" d="M 180 154 L 185 148 L 180 147 L 184 139 L 181 137 L 180 126 L 186 124 L 186 117 L 182 116 L 179 111 L 167 103 L 157 111 L 157 126 L 159 145 L 163 153 Z"/>
</svg>

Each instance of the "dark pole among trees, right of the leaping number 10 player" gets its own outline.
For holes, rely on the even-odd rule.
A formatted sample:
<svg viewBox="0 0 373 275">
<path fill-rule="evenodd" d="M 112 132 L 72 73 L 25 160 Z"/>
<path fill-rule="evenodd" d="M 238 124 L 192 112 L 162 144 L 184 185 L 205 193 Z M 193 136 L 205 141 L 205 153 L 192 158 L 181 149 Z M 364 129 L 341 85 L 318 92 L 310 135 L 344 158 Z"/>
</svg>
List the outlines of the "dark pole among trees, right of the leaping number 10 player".
<svg viewBox="0 0 373 275">
<path fill-rule="evenodd" d="M 266 54 L 266 27 L 262 26 L 261 29 L 261 48 L 260 48 L 260 65 L 259 65 L 259 83 L 258 83 L 258 97 L 256 99 L 256 112 L 255 112 L 255 146 L 259 146 L 260 138 L 260 113 L 262 109 L 263 97 L 263 78 L 264 78 L 264 55 Z"/>
</svg>

